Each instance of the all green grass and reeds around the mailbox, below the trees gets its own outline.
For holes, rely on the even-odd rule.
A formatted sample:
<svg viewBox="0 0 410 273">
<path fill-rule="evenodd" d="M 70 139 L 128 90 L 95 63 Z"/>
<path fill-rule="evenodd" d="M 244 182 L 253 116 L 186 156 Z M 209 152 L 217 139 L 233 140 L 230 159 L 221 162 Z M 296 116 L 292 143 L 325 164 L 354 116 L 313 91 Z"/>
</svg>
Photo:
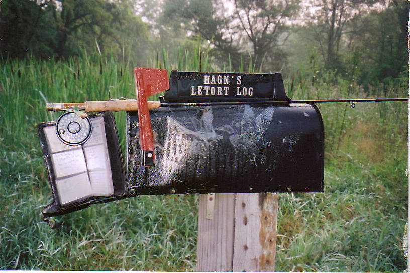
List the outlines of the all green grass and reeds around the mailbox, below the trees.
<svg viewBox="0 0 410 273">
<path fill-rule="evenodd" d="M 211 71 L 200 50 L 147 67 Z M 134 65 L 97 53 L 0 66 L 0 269 L 195 271 L 198 195 L 138 196 L 56 217 L 37 124 L 47 102 L 134 98 Z M 229 70 L 227 67 L 225 70 Z M 244 64 L 242 71 L 254 71 Z M 241 71 L 240 71 L 241 72 Z M 304 68 L 284 74 L 293 99 L 407 97 L 408 78 L 366 92 L 352 77 Z M 155 99 L 155 98 L 154 98 Z M 407 219 L 407 103 L 319 104 L 325 190 L 280 193 L 277 271 L 403 271 Z M 125 113 L 115 113 L 123 153 Z"/>
</svg>

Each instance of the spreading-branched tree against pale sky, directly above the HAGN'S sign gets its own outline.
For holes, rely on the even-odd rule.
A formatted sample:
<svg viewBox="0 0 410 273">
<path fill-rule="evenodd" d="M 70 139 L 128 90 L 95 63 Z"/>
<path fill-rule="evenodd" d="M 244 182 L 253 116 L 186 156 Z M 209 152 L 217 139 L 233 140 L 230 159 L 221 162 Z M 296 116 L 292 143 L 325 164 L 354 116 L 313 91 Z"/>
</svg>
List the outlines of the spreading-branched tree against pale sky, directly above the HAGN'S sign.
<svg viewBox="0 0 410 273">
<path fill-rule="evenodd" d="M 298 2 L 166 0 L 162 19 L 173 30 L 183 29 L 208 40 L 220 57 L 231 58 L 236 69 L 250 53 L 256 68 L 265 57 L 270 70 L 272 64 L 283 61 L 279 46 Z"/>
</svg>

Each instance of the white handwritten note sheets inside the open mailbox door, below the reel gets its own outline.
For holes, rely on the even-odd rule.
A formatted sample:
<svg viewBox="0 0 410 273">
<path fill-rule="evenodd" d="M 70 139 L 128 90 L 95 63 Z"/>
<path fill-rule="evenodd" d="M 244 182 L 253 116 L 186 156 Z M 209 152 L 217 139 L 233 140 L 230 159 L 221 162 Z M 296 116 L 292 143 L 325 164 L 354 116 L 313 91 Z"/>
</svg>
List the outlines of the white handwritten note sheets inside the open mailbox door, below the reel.
<svg viewBox="0 0 410 273">
<path fill-rule="evenodd" d="M 91 196 L 114 194 L 104 118 L 92 118 L 91 124 L 91 137 L 77 146 L 62 143 L 55 126 L 44 127 L 57 194 L 63 206 Z"/>
</svg>

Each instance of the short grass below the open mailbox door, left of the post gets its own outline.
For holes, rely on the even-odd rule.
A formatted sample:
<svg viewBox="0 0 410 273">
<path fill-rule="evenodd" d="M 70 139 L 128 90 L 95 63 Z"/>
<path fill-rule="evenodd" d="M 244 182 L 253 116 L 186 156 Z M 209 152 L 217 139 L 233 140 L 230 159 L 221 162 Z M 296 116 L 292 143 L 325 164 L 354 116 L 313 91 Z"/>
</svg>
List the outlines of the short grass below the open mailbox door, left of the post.
<svg viewBox="0 0 410 273">
<path fill-rule="evenodd" d="M 94 206 L 58 217 L 64 224 L 52 230 L 42 222 L 41 208 L 51 198 L 42 159 L 31 160 L 35 154 L 33 149 L 0 155 L 0 268 L 172 271 L 193 267 L 197 217 L 192 208 L 197 195 L 140 196 Z M 32 169 L 30 163 L 36 167 Z"/>
</svg>

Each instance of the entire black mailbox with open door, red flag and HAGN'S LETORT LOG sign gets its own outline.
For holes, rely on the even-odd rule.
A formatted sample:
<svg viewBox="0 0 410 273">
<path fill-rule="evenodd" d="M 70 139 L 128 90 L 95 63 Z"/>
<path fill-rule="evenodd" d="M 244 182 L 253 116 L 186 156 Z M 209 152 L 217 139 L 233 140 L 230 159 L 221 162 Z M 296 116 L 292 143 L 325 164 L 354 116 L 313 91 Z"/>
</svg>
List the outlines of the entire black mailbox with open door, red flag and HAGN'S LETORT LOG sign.
<svg viewBox="0 0 410 273">
<path fill-rule="evenodd" d="M 134 73 L 138 101 L 87 101 L 85 111 L 107 112 L 39 124 L 53 194 L 44 216 L 144 194 L 323 191 L 322 117 L 314 104 L 292 103 L 280 73 Z M 123 104 L 125 169 L 108 112 Z"/>
</svg>

